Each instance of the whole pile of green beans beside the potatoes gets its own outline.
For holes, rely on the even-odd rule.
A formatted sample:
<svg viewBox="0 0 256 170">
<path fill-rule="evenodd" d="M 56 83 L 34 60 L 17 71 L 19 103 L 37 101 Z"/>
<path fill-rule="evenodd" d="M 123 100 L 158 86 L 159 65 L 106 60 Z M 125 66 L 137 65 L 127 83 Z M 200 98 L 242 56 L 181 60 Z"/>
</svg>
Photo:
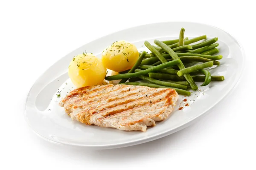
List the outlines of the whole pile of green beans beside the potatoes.
<svg viewBox="0 0 256 170">
<path fill-rule="evenodd" d="M 210 73 L 210 70 L 221 65 L 217 61 L 222 59 L 216 48 L 219 45 L 218 38 L 206 40 L 207 36 L 202 35 L 189 39 L 184 34 L 185 29 L 181 28 L 178 39 L 154 40 L 155 45 L 145 41 L 150 53 L 139 53 L 140 57 L 130 70 L 105 79 L 121 79 L 119 84 L 125 85 L 172 88 L 186 96 L 191 94 L 188 88 L 194 91 L 198 89 L 195 82 L 203 82 L 201 86 L 206 86 L 214 81 L 223 81 L 224 76 Z"/>
</svg>

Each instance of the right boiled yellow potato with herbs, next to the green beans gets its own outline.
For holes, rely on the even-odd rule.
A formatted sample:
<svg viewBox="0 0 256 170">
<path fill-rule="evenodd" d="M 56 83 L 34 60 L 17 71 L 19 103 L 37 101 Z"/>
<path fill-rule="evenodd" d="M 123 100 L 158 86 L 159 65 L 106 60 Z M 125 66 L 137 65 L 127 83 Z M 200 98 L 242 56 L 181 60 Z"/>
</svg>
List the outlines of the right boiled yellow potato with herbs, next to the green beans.
<svg viewBox="0 0 256 170">
<path fill-rule="evenodd" d="M 139 58 L 139 52 L 130 42 L 116 41 L 102 52 L 102 62 L 106 68 L 120 72 L 131 69 Z"/>
</svg>

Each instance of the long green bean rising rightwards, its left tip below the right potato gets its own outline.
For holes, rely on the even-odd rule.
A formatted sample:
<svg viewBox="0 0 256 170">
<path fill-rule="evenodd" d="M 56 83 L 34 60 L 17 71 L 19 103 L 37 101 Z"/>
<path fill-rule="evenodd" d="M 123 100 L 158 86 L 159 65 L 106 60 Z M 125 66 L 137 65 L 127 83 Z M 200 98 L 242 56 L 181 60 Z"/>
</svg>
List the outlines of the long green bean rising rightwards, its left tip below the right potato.
<svg viewBox="0 0 256 170">
<path fill-rule="evenodd" d="M 131 77 L 138 77 L 138 76 L 141 76 L 141 75 L 146 75 L 150 72 L 160 71 L 163 68 L 171 67 L 171 66 L 176 65 L 180 62 L 181 62 L 180 59 L 175 59 L 173 61 L 165 62 L 163 64 L 157 65 L 157 66 L 152 67 L 152 68 L 148 68 L 148 69 L 140 71 L 140 72 L 113 75 L 113 76 L 105 77 L 105 79 L 106 80 L 116 80 L 116 79 L 128 79 L 128 78 L 131 78 Z"/>
</svg>

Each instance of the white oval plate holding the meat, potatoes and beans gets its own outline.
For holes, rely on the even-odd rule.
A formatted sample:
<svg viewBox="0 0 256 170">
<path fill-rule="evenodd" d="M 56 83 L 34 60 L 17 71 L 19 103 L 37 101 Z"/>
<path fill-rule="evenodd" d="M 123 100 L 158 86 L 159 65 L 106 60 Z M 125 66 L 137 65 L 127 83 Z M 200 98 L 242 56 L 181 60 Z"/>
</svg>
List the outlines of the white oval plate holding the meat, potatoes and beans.
<svg viewBox="0 0 256 170">
<path fill-rule="evenodd" d="M 93 52 L 101 57 L 102 50 L 116 40 L 134 43 L 139 51 L 145 50 L 144 41 L 153 44 L 154 39 L 169 40 L 179 35 L 180 28 L 186 28 L 185 36 L 192 38 L 206 34 L 218 37 L 221 66 L 211 70 L 212 75 L 223 75 L 222 82 L 211 82 L 200 87 L 189 97 L 181 96 L 168 119 L 148 127 L 146 132 L 121 131 L 113 128 L 84 125 L 72 121 L 58 106 L 58 101 L 74 89 L 67 75 L 67 67 L 77 54 Z M 230 34 L 213 26 L 199 23 L 169 22 L 154 23 L 122 30 L 90 42 L 61 58 L 52 65 L 32 86 L 26 99 L 25 119 L 32 129 L 50 142 L 74 146 L 110 149 L 149 142 L 187 127 L 204 113 L 213 108 L 236 86 L 244 67 L 244 52 Z M 201 83 L 198 83 L 200 85 Z M 57 93 L 61 97 L 57 97 Z M 59 94 L 58 93 L 58 94 Z M 183 99 L 187 102 L 183 102 Z M 186 103 L 189 106 L 184 106 Z M 178 108 L 183 107 L 183 110 Z"/>
</svg>

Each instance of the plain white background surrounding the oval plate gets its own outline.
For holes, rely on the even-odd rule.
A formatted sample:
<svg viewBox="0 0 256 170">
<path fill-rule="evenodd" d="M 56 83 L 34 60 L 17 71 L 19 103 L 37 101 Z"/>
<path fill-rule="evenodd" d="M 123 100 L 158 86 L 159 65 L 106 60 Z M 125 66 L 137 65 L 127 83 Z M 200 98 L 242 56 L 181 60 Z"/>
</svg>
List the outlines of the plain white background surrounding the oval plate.
<svg viewBox="0 0 256 170">
<path fill-rule="evenodd" d="M 255 6 L 250 1 L 0 1 L 0 169 L 256 169 Z M 137 25 L 191 21 L 227 31 L 244 47 L 236 90 L 200 122 L 153 142 L 113 150 L 51 144 L 23 118 L 30 87 L 55 61 Z"/>
</svg>

